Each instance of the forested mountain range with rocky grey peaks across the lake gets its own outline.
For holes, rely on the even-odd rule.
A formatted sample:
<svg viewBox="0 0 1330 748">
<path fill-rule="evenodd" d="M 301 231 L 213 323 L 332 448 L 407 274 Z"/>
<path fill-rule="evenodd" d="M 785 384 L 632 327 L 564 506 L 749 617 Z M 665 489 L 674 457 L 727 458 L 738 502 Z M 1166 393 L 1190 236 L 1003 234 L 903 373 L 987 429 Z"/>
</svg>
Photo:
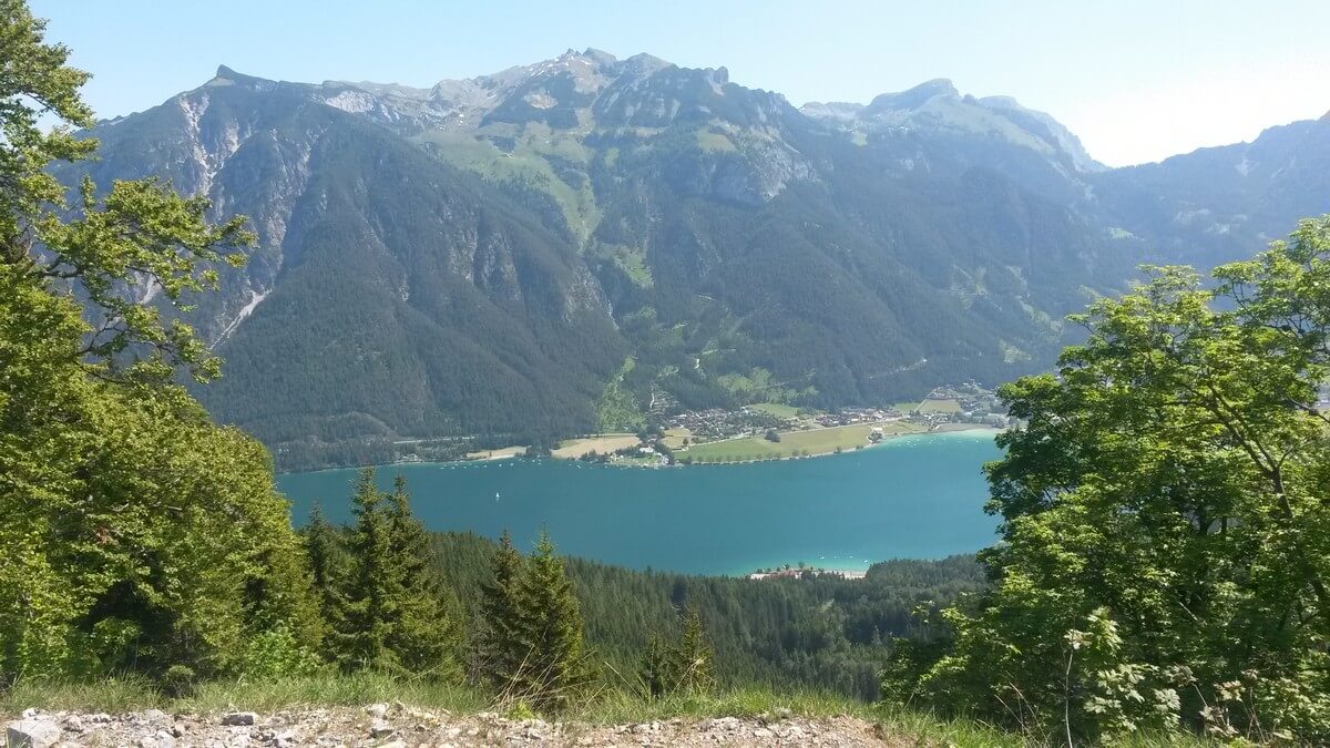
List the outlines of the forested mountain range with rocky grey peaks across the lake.
<svg viewBox="0 0 1330 748">
<path fill-rule="evenodd" d="M 1137 262 L 1323 212 L 1327 126 L 1108 170 L 948 81 L 797 109 L 589 49 L 431 88 L 223 67 L 100 124 L 90 169 L 251 217 L 250 264 L 192 314 L 226 359 L 200 394 L 293 467 L 1043 369 Z"/>
</svg>

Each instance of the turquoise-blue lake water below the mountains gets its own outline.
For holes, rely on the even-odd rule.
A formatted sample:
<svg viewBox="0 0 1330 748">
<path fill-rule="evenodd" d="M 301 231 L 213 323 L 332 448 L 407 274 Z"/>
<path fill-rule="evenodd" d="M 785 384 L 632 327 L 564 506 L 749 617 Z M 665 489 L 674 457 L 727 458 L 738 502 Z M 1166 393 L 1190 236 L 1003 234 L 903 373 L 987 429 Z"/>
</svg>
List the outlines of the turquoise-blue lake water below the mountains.
<svg viewBox="0 0 1330 748">
<path fill-rule="evenodd" d="M 749 465 L 641 468 L 555 459 L 396 465 L 430 530 L 528 548 L 541 528 L 567 555 L 632 568 L 747 574 L 798 564 L 862 570 L 891 558 L 942 558 L 992 544 L 980 467 L 992 431 L 898 437 L 871 449 Z M 318 500 L 350 522 L 355 470 L 278 476 L 297 523 Z"/>
</svg>

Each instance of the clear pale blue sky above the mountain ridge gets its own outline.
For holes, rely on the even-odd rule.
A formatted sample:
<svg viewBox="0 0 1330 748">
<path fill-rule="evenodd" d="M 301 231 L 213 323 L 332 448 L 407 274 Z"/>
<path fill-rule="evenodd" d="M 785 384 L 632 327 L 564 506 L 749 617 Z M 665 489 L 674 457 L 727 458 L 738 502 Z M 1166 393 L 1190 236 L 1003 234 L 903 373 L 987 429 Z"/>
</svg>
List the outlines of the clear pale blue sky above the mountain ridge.
<svg viewBox="0 0 1330 748">
<path fill-rule="evenodd" d="M 31 1 L 96 75 L 100 116 L 160 104 L 222 63 L 424 87 L 587 47 L 725 65 L 795 105 L 950 77 L 1049 112 L 1112 165 L 1330 110 L 1330 0 Z"/>
</svg>

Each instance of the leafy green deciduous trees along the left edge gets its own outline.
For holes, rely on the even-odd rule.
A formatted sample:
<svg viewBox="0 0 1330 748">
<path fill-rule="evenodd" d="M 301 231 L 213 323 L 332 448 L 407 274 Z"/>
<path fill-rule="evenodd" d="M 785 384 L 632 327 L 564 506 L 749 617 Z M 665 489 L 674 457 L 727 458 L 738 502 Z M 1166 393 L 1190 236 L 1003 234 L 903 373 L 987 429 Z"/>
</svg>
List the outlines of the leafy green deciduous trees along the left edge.
<svg viewBox="0 0 1330 748">
<path fill-rule="evenodd" d="M 66 204 L 47 169 L 96 149 L 69 129 L 90 124 L 88 76 L 43 31 L 0 1 L 0 676 L 206 675 L 255 639 L 311 647 L 266 453 L 173 383 L 215 373 L 189 327 L 126 301 L 185 303 L 250 237 L 153 181 Z"/>
</svg>

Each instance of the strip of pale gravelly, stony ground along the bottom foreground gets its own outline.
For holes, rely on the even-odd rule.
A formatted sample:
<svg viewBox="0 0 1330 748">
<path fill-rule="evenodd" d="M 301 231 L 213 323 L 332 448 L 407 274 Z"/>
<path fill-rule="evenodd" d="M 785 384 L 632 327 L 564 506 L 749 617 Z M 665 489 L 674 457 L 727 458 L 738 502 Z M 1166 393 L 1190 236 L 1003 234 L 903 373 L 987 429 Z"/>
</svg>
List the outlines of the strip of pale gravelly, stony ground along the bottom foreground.
<svg viewBox="0 0 1330 748">
<path fill-rule="evenodd" d="M 128 745 L 133 748 L 294 748 L 451 745 L 907 745 L 884 739 L 855 717 L 805 719 L 786 713 L 739 719 L 672 719 L 598 725 L 509 720 L 499 715 L 451 715 L 394 703 L 366 708 L 293 708 L 267 713 L 124 715 L 29 711 L 7 723 L 11 745 L 37 748 Z M 253 719 L 250 719 L 253 717 Z M 25 737 L 19 737 L 19 736 Z M 24 741 L 27 740 L 27 741 Z"/>
</svg>

